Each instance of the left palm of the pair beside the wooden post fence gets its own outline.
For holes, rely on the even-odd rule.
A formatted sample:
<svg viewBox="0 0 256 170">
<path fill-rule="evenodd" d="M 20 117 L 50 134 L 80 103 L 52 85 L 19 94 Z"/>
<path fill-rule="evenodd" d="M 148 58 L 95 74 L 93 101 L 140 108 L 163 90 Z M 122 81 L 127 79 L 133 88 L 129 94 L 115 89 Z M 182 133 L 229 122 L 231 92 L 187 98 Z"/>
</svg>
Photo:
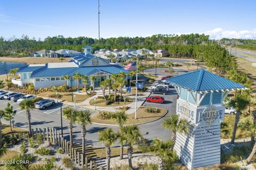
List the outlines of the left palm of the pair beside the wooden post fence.
<svg viewBox="0 0 256 170">
<path fill-rule="evenodd" d="M 73 147 L 73 124 L 76 122 L 76 112 L 72 107 L 66 107 L 63 109 L 63 115 L 68 121 L 70 145 Z"/>
</svg>

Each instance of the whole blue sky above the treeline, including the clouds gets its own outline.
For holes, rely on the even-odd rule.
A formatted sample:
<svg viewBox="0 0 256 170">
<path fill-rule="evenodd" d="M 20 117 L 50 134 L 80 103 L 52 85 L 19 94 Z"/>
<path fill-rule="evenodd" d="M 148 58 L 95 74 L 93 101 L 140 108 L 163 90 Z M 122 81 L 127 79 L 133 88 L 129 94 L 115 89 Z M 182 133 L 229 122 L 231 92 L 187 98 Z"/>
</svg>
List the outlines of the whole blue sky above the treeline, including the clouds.
<svg viewBox="0 0 256 170">
<path fill-rule="evenodd" d="M 100 0 L 100 37 L 256 39 L 254 0 Z M 98 0 L 0 0 L 0 36 L 98 38 Z"/>
</svg>

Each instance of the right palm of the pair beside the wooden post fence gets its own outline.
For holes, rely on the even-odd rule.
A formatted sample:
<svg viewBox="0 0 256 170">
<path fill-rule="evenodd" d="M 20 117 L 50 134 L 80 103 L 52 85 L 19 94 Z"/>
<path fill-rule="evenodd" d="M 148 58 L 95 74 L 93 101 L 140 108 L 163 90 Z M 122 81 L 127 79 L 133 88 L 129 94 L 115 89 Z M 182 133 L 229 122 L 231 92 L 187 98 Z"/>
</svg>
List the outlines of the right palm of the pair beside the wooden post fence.
<svg viewBox="0 0 256 170">
<path fill-rule="evenodd" d="M 81 136 L 82 136 L 82 154 L 85 158 L 85 135 L 86 135 L 86 126 L 91 124 L 91 113 L 89 110 L 86 111 L 75 111 L 77 120 L 76 122 L 81 125 Z M 85 160 L 85 159 L 84 159 Z"/>
</svg>

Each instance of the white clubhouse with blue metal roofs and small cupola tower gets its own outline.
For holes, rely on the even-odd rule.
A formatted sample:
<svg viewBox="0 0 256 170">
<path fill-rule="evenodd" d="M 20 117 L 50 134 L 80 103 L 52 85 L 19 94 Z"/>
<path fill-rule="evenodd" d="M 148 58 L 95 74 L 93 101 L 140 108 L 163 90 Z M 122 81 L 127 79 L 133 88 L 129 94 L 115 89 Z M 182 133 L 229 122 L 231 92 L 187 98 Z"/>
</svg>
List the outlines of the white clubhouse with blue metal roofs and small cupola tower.
<svg viewBox="0 0 256 170">
<path fill-rule="evenodd" d="M 100 82 L 108 79 L 114 73 L 128 73 L 124 70 L 124 66 L 109 63 L 108 60 L 92 55 L 92 47 L 83 47 L 84 53 L 72 57 L 69 62 L 63 63 L 47 63 L 47 64 L 30 64 L 21 67 L 18 70 L 20 79 L 13 79 L 14 84 L 24 87 L 33 83 L 35 89 L 51 86 L 62 86 L 65 84 L 63 76 L 70 77 L 67 80 L 67 86 L 77 86 L 77 80 L 72 77 L 79 72 L 82 75 L 87 75 L 88 85 L 92 84 L 90 77 L 96 77 L 95 86 L 99 86 Z M 127 79 L 127 77 L 126 77 Z M 83 86 L 82 80 L 79 79 L 79 86 Z"/>
</svg>

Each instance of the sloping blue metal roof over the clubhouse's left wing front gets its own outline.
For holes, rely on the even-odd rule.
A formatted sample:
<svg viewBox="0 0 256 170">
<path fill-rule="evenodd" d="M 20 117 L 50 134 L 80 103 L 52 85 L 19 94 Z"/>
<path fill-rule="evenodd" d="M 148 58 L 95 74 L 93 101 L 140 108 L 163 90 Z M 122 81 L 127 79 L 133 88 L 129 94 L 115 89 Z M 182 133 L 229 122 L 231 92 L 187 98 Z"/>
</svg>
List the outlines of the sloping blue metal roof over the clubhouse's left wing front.
<svg viewBox="0 0 256 170">
<path fill-rule="evenodd" d="M 31 78 L 67 75 L 69 72 L 75 69 L 76 67 L 48 68 L 48 69 L 42 70 L 41 72 L 31 74 Z"/>
</svg>

